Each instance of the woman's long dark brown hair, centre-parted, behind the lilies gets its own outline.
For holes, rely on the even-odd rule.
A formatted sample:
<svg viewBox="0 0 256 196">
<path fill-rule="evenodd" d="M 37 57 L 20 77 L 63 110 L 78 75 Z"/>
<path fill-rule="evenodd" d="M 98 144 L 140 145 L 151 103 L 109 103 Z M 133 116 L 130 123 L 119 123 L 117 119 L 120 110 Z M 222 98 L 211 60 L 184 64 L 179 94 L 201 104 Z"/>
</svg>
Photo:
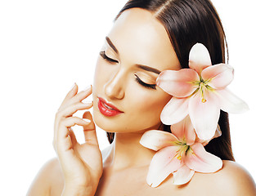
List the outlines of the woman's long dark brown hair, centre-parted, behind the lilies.
<svg viewBox="0 0 256 196">
<path fill-rule="evenodd" d="M 182 68 L 188 68 L 189 51 L 196 42 L 207 47 L 213 65 L 225 63 L 225 33 L 218 13 L 209 0 L 130 0 L 115 20 L 123 11 L 133 7 L 150 11 L 164 25 Z M 221 111 L 218 125 L 222 136 L 211 140 L 205 149 L 222 160 L 234 161 L 226 112 Z M 164 131 L 170 131 L 170 127 L 164 125 Z M 114 133 L 107 132 L 107 136 L 112 143 Z"/>
</svg>

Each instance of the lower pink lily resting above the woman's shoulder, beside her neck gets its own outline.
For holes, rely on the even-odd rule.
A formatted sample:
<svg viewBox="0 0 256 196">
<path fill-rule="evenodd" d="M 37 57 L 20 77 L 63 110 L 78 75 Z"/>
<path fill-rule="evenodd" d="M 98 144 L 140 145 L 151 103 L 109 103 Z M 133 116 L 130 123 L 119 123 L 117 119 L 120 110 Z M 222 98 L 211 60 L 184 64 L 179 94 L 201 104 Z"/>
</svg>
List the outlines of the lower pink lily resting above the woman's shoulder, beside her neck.
<svg viewBox="0 0 256 196">
<path fill-rule="evenodd" d="M 150 163 L 146 182 L 157 187 L 173 173 L 173 184 L 184 185 L 195 171 L 211 173 L 222 168 L 222 160 L 205 151 L 201 140 L 196 139 L 189 116 L 172 125 L 172 133 L 159 130 L 146 131 L 141 145 L 157 151 Z M 214 137 L 220 136 L 216 131 Z"/>
</svg>

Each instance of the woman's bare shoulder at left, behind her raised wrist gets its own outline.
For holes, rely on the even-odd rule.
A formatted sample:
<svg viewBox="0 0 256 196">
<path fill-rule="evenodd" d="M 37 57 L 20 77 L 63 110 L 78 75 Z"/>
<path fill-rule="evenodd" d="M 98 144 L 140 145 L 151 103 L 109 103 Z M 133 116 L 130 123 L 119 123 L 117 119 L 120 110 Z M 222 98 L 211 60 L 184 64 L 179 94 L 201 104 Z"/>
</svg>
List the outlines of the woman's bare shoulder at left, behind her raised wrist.
<svg viewBox="0 0 256 196">
<path fill-rule="evenodd" d="M 61 165 L 57 158 L 52 158 L 38 171 L 27 195 L 61 195 L 63 187 Z"/>
</svg>

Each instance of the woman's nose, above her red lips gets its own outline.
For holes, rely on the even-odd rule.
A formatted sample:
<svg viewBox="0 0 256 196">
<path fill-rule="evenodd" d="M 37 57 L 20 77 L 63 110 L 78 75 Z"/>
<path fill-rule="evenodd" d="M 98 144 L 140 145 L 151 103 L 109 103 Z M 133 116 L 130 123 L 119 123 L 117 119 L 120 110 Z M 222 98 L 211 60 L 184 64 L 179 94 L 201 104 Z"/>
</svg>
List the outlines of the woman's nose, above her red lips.
<svg viewBox="0 0 256 196">
<path fill-rule="evenodd" d="M 104 85 L 106 96 L 110 99 L 121 100 L 124 98 L 124 76 L 122 73 L 116 73 L 113 78 L 110 78 Z"/>
</svg>

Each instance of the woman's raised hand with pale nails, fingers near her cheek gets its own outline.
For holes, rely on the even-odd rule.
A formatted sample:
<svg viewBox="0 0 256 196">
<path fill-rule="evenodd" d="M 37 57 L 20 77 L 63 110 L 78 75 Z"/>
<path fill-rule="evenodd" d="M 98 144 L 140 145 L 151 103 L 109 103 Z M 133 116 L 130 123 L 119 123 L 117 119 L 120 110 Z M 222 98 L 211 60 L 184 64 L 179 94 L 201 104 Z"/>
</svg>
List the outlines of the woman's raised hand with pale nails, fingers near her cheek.
<svg viewBox="0 0 256 196">
<path fill-rule="evenodd" d="M 65 191 L 72 189 L 72 192 L 83 192 L 83 195 L 95 194 L 103 171 L 92 114 L 86 111 L 83 119 L 73 116 L 78 110 L 92 107 L 92 103 L 82 102 L 90 94 L 92 87 L 78 93 L 78 86 L 74 84 L 56 113 L 54 125 L 53 145 L 64 173 Z M 83 127 L 86 141 L 83 145 L 74 136 L 71 129 L 74 125 Z"/>
</svg>

